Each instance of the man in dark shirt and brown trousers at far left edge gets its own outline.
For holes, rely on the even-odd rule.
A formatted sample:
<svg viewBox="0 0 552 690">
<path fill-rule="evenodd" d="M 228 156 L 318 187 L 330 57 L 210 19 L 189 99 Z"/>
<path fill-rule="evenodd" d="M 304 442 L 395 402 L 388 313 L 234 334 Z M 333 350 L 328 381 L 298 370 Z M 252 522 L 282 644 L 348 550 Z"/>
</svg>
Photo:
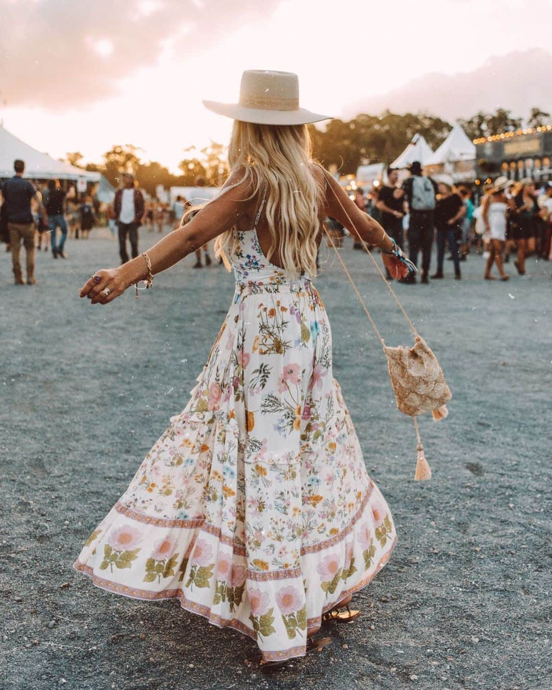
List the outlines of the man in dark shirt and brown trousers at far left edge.
<svg viewBox="0 0 552 690">
<path fill-rule="evenodd" d="M 40 193 L 28 179 L 23 179 L 25 164 L 17 160 L 13 164 L 15 175 L 2 185 L 3 204 L 6 205 L 8 218 L 8 233 L 12 252 L 12 268 L 16 285 L 35 285 L 35 246 L 36 227 L 30 210 L 31 199 L 41 201 Z M 27 280 L 21 270 L 21 240 L 26 253 Z"/>
</svg>

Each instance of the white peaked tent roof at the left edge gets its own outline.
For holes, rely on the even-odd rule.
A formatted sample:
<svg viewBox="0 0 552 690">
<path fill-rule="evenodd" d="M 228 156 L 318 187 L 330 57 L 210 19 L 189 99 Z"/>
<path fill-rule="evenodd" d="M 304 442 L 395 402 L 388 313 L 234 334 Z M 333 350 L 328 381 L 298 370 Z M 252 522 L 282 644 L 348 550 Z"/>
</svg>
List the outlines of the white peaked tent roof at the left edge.
<svg viewBox="0 0 552 690">
<path fill-rule="evenodd" d="M 13 161 L 25 161 L 23 177 L 33 179 L 79 179 L 85 177 L 90 182 L 97 182 L 99 172 L 89 172 L 68 163 L 62 163 L 55 158 L 32 148 L 21 139 L 17 139 L 11 132 L 0 125 L 0 177 L 12 177 Z"/>
</svg>

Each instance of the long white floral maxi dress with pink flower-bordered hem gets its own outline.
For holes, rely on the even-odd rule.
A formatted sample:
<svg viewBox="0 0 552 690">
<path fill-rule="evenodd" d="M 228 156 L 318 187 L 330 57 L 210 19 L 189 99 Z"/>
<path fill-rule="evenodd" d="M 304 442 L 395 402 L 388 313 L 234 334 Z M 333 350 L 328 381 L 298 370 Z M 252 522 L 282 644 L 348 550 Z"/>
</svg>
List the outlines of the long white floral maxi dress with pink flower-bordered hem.
<svg viewBox="0 0 552 690">
<path fill-rule="evenodd" d="M 178 599 L 282 660 L 372 580 L 396 534 L 332 376 L 318 293 L 267 261 L 255 226 L 237 235 L 236 293 L 191 400 L 75 569 L 117 594 Z"/>
</svg>

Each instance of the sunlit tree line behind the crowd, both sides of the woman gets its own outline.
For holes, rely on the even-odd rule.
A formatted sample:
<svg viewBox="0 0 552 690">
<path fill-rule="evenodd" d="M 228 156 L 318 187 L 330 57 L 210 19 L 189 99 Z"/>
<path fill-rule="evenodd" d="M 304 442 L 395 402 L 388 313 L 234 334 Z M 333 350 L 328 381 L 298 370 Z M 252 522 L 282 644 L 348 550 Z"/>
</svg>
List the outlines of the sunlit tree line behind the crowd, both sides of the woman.
<svg viewBox="0 0 552 690">
<path fill-rule="evenodd" d="M 551 115 L 540 108 L 531 108 L 527 119 L 528 127 L 548 124 Z M 469 119 L 459 119 L 470 139 L 489 137 L 502 132 L 517 130 L 522 118 L 512 115 L 511 110 L 497 108 L 495 112 L 479 111 Z M 342 175 L 354 174 L 361 164 L 383 161 L 390 164 L 406 147 L 412 137 L 419 133 L 435 149 L 448 136 L 452 125 L 440 117 L 427 113 L 406 112 L 403 115 L 386 110 L 382 115 L 357 115 L 351 120 L 333 119 L 325 130 L 309 125 L 313 141 L 313 155 L 326 167 L 335 166 Z M 155 187 L 195 186 L 200 184 L 222 184 L 228 164 L 225 146 L 212 142 L 196 151 L 184 149 L 184 158 L 178 164 L 179 175 L 158 163 L 142 161 L 141 149 L 132 144 L 118 144 L 106 151 L 102 164 L 84 164 L 79 151 L 66 155 L 66 161 L 86 170 L 102 172 L 114 186 L 119 184 L 124 171 L 133 172 L 146 192 L 155 196 Z"/>
</svg>

